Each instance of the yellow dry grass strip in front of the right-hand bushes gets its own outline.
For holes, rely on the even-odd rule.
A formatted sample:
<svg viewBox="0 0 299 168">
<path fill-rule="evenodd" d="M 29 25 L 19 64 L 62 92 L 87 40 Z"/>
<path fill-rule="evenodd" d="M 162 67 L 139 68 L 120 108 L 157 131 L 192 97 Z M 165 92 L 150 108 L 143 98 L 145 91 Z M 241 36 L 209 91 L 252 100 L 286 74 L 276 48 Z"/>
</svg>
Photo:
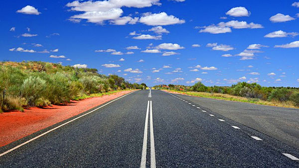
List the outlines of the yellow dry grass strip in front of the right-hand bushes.
<svg viewBox="0 0 299 168">
<path fill-rule="evenodd" d="M 176 90 L 170 90 L 170 91 L 181 93 L 181 94 L 192 95 L 192 96 L 198 96 L 198 97 L 239 101 L 239 102 L 254 103 L 254 104 L 261 104 L 261 105 L 271 105 L 271 106 L 278 106 L 278 107 L 299 108 L 294 106 L 292 101 L 286 101 L 286 102 L 264 101 L 257 98 L 246 98 L 246 97 L 234 96 L 230 94 L 221 94 L 221 93 L 206 93 L 206 92 L 194 92 L 194 91 L 185 92 L 185 91 L 176 91 Z"/>
</svg>

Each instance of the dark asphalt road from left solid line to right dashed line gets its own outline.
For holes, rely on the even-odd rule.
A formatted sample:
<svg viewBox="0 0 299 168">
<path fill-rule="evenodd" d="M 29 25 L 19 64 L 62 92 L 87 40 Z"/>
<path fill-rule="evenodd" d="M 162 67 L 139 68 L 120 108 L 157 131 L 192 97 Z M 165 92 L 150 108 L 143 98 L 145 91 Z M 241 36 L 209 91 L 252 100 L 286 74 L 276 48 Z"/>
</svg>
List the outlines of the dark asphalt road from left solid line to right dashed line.
<svg viewBox="0 0 299 168">
<path fill-rule="evenodd" d="M 298 149 L 205 105 L 136 91 L 0 148 L 0 167 L 299 167 Z"/>
</svg>

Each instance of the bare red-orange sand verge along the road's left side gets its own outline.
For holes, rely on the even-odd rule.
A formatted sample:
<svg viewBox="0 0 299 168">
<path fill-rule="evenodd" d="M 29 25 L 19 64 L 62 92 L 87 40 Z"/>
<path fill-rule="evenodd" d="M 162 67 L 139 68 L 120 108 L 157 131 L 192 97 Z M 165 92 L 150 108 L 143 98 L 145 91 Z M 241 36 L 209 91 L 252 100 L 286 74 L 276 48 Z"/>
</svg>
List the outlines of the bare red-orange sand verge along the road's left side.
<svg viewBox="0 0 299 168">
<path fill-rule="evenodd" d="M 131 91 L 72 101 L 68 105 L 53 105 L 45 108 L 32 107 L 25 109 L 24 112 L 0 113 L 0 147 L 129 92 Z"/>
</svg>

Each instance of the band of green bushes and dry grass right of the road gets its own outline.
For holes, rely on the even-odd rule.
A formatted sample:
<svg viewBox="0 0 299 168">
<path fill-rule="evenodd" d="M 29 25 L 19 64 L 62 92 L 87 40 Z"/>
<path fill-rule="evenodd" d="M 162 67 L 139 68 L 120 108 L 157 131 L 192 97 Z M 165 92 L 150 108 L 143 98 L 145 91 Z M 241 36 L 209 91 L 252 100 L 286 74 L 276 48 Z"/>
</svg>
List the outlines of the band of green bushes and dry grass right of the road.
<svg viewBox="0 0 299 168">
<path fill-rule="evenodd" d="M 198 82 L 193 86 L 168 84 L 154 87 L 207 98 L 282 107 L 299 107 L 299 88 L 296 87 L 263 87 L 256 83 L 248 84 L 246 82 L 233 84 L 232 86 L 205 86 Z"/>
</svg>

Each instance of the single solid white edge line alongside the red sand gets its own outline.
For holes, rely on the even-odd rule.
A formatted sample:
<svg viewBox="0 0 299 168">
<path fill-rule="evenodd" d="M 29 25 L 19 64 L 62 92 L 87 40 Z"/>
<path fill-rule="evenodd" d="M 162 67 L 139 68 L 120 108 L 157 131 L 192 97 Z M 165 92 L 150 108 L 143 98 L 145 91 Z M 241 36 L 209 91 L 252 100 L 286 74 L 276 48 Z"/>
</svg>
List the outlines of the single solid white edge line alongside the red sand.
<svg viewBox="0 0 299 168">
<path fill-rule="evenodd" d="M 131 93 L 134 93 L 134 92 L 135 92 L 135 91 L 133 91 L 133 92 L 131 92 Z M 131 94 L 131 93 L 129 93 L 129 94 Z M 59 126 L 53 128 L 53 129 L 51 129 L 51 130 L 49 130 L 49 131 L 47 131 L 47 132 L 44 132 L 44 133 L 42 133 L 42 134 L 40 134 L 40 135 L 38 135 L 38 136 L 36 136 L 36 137 L 34 137 L 34 138 L 32 138 L 32 139 L 30 139 L 30 140 L 24 142 L 24 143 L 22 143 L 22 144 L 20 144 L 20 145 L 14 147 L 14 148 L 11 148 L 10 150 L 8 150 L 8 151 L 3 152 L 2 154 L 0 154 L 0 157 L 3 156 L 3 155 L 5 155 L 5 154 L 7 154 L 7 153 L 9 153 L 9 152 L 11 152 L 11 151 L 13 151 L 13 150 L 18 149 L 19 147 L 21 147 L 21 146 L 23 146 L 23 145 L 28 144 L 29 142 L 32 142 L 32 141 L 38 139 L 39 137 L 42 137 L 42 136 L 48 134 L 49 132 L 52 132 L 52 131 L 54 131 L 54 130 L 56 130 L 56 129 L 58 129 L 58 128 L 60 128 L 60 127 L 62 127 L 62 126 L 64 126 L 64 125 L 66 125 L 66 124 L 68 124 L 68 123 L 70 123 L 70 122 L 73 122 L 73 121 L 75 121 L 75 120 L 77 120 L 77 119 L 79 119 L 79 118 L 81 118 L 81 117 L 83 117 L 83 116 L 85 116 L 85 115 L 87 115 L 87 114 L 90 114 L 90 113 L 92 113 L 92 112 L 94 112 L 94 111 L 96 111 L 96 110 L 98 110 L 98 109 L 100 109 L 100 108 L 102 108 L 102 107 L 104 107 L 104 106 L 106 106 L 106 105 L 108 105 L 108 104 L 110 104 L 110 103 L 112 103 L 112 102 L 114 102 L 114 101 L 120 99 L 120 98 L 123 98 L 123 97 L 125 97 L 125 96 L 127 96 L 127 95 L 129 95 L 129 94 L 126 94 L 126 95 L 123 95 L 123 96 L 121 96 L 121 97 L 119 97 L 119 98 L 117 98 L 117 99 L 114 99 L 114 100 L 112 100 L 112 101 L 110 101 L 110 102 L 108 102 L 108 103 L 102 105 L 101 107 L 98 107 L 98 108 L 96 108 L 96 109 L 94 109 L 94 110 L 92 110 L 92 111 L 90 111 L 90 112 L 88 112 L 88 113 L 86 113 L 86 114 L 83 114 L 83 115 L 81 115 L 81 116 L 79 116 L 79 117 L 77 117 L 77 118 L 74 118 L 74 119 L 72 119 L 72 120 L 70 120 L 70 121 L 68 121 L 68 122 L 66 122 L 66 123 L 64 123 L 64 124 L 61 124 L 61 125 L 59 125 Z"/>
</svg>

